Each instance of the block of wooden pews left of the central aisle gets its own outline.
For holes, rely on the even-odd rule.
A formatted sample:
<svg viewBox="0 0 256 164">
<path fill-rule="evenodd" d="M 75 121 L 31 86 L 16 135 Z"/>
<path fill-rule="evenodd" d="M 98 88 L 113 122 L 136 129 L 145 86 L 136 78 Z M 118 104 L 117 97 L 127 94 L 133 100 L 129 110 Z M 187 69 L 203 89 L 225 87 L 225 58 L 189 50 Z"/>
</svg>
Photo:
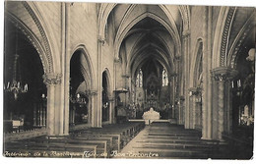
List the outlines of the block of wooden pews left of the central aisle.
<svg viewBox="0 0 256 164">
<path fill-rule="evenodd" d="M 111 158 L 145 127 L 144 123 L 105 125 L 73 131 L 67 137 L 33 137 L 5 142 L 11 157 Z"/>
</svg>

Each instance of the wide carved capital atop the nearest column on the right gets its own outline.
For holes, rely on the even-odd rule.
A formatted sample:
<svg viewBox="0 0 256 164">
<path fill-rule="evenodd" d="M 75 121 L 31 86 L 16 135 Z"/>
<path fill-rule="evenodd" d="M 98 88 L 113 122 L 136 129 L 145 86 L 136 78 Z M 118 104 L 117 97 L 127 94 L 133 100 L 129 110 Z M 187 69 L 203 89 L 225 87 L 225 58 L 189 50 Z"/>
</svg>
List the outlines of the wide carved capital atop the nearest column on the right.
<svg viewBox="0 0 256 164">
<path fill-rule="evenodd" d="M 237 76 L 238 72 L 229 67 L 218 67 L 211 71 L 212 76 L 217 82 L 225 82 Z"/>
</svg>

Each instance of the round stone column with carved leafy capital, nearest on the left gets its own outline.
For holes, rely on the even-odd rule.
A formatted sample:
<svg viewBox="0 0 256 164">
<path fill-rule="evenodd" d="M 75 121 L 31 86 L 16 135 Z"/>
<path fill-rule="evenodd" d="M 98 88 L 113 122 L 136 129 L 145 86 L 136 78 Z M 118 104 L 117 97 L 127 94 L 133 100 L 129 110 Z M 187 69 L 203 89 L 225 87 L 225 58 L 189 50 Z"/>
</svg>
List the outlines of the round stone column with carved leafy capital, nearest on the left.
<svg viewBox="0 0 256 164">
<path fill-rule="evenodd" d="M 55 85 L 61 82 L 61 76 L 59 74 L 48 73 L 42 76 L 43 82 L 47 85 L 47 135 L 55 136 L 55 126 L 58 120 L 55 120 Z M 62 124 L 62 123 L 60 123 Z"/>
</svg>

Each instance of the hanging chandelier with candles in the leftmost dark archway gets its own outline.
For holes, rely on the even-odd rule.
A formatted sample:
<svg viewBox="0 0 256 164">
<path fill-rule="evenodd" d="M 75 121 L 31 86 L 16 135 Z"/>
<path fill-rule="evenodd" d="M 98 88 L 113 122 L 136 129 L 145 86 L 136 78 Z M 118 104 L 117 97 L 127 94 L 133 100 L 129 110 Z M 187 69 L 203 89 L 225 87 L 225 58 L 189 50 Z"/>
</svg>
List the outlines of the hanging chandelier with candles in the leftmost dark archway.
<svg viewBox="0 0 256 164">
<path fill-rule="evenodd" d="M 17 29 L 17 28 L 16 28 Z M 17 77 L 17 72 L 18 70 L 18 66 L 19 65 L 19 55 L 17 54 L 17 49 L 18 49 L 18 34 L 17 34 L 17 30 L 16 30 L 16 48 L 15 48 L 15 59 L 14 59 L 14 67 L 13 67 L 13 80 L 12 82 L 7 82 L 7 86 L 5 87 L 4 84 L 4 90 L 8 91 L 8 92 L 12 92 L 14 94 L 14 99 L 17 100 L 18 98 L 18 94 L 20 93 L 25 93 L 28 92 L 29 90 L 29 85 L 28 83 L 26 83 L 24 86 L 22 84 L 22 78 L 21 78 L 21 74 L 19 74 L 19 80 Z M 21 71 L 21 69 L 20 69 Z"/>
</svg>

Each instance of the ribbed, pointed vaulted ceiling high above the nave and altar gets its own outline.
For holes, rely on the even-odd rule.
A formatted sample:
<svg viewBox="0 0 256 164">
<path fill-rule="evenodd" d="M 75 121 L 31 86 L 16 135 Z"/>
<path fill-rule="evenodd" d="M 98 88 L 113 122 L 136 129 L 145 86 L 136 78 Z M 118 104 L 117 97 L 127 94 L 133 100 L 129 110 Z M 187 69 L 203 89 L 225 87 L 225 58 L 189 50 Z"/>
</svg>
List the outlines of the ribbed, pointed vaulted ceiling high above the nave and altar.
<svg viewBox="0 0 256 164">
<path fill-rule="evenodd" d="M 164 8 L 171 9 L 166 13 Z M 173 72 L 182 31 L 178 6 L 119 4 L 107 22 L 113 24 L 115 49 L 132 77 L 150 61 Z"/>
</svg>

